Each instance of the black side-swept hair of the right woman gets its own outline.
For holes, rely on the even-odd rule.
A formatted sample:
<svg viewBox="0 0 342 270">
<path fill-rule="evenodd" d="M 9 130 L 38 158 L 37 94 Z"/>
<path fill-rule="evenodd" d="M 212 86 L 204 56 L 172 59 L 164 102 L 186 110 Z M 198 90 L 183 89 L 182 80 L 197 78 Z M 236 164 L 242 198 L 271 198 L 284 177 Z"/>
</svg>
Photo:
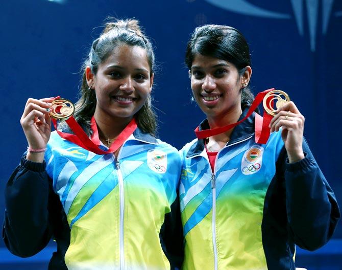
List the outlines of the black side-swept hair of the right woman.
<svg viewBox="0 0 342 270">
<path fill-rule="evenodd" d="M 245 37 L 235 28 L 224 25 L 197 27 L 187 43 L 185 63 L 191 70 L 196 54 L 223 59 L 233 63 L 242 75 L 251 65 L 250 50 Z M 250 106 L 254 95 L 249 84 L 241 89 L 241 107 Z"/>
</svg>

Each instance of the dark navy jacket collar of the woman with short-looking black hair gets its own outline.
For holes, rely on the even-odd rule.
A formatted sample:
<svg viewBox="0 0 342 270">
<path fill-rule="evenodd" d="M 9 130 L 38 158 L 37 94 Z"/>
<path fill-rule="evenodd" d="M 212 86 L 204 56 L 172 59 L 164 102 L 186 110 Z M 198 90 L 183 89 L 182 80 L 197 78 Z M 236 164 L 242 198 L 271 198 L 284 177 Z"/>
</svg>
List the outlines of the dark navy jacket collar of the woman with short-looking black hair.
<svg viewBox="0 0 342 270">
<path fill-rule="evenodd" d="M 238 121 L 240 121 L 243 117 L 247 115 L 248 110 L 249 110 L 249 107 L 245 107 L 245 109 L 243 109 L 242 114 Z M 255 119 L 255 113 L 253 112 L 253 114 L 249 118 L 247 118 L 245 121 L 243 121 L 242 123 L 234 127 L 230 140 L 226 144 L 226 146 L 253 136 L 254 119 Z M 209 129 L 209 123 L 207 119 L 205 119 L 200 124 L 200 130 L 205 130 L 205 129 Z M 196 143 L 194 143 L 190 147 L 188 153 L 186 154 L 186 158 L 191 158 L 192 156 L 199 155 L 200 153 L 202 153 L 202 151 L 204 150 L 204 140 L 205 139 L 197 140 Z"/>
</svg>

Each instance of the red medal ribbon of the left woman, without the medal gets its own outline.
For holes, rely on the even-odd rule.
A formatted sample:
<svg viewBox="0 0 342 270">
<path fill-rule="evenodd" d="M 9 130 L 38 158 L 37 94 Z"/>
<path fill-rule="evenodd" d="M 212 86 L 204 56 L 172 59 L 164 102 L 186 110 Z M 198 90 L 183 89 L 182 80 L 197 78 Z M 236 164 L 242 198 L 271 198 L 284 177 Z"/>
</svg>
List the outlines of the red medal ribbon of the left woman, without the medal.
<svg viewBox="0 0 342 270">
<path fill-rule="evenodd" d="M 78 146 L 81 146 L 82 148 L 88 151 L 91 151 L 95 154 L 114 153 L 117 149 L 121 147 L 121 145 L 125 143 L 125 141 L 131 136 L 131 134 L 134 132 L 134 130 L 138 126 L 137 123 L 135 122 L 135 119 L 133 118 L 131 122 L 124 128 L 124 130 L 121 131 L 121 133 L 112 143 L 110 148 L 107 151 L 105 151 L 99 148 L 99 145 L 100 145 L 99 131 L 97 130 L 97 125 L 96 125 L 94 117 L 91 118 L 91 125 L 90 125 L 93 131 L 91 139 L 88 137 L 86 132 L 84 132 L 82 127 L 79 125 L 79 123 L 77 123 L 77 121 L 75 120 L 73 116 L 69 117 L 69 119 L 65 120 L 65 122 L 69 125 L 70 129 L 72 130 L 72 132 L 74 132 L 74 134 L 65 133 L 65 132 L 58 130 L 56 119 L 53 118 L 52 122 L 60 137 L 62 137 L 65 140 L 68 140 L 69 142 L 75 143 Z"/>
</svg>

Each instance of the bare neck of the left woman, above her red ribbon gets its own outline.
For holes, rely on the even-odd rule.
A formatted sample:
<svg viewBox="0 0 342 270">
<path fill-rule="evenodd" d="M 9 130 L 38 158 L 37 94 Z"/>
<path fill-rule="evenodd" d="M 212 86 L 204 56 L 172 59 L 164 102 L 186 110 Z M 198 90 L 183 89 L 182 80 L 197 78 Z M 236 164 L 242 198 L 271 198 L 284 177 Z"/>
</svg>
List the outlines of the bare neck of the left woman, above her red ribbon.
<svg viewBox="0 0 342 270">
<path fill-rule="evenodd" d="M 131 118 L 112 117 L 108 115 L 94 113 L 97 129 L 99 130 L 100 140 L 106 144 L 107 139 L 115 139 L 121 131 L 131 122 Z"/>
</svg>

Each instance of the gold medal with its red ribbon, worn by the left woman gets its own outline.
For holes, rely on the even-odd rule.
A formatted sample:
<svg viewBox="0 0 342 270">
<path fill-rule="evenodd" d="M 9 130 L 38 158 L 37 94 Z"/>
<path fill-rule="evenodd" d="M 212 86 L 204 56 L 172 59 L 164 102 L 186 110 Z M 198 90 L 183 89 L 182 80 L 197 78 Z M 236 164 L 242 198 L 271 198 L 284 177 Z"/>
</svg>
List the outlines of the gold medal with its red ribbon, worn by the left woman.
<svg viewBox="0 0 342 270">
<path fill-rule="evenodd" d="M 133 118 L 131 122 L 124 128 L 123 131 L 119 134 L 119 136 L 115 139 L 114 143 L 110 146 L 110 148 L 105 151 L 99 148 L 100 139 L 99 139 L 99 131 L 97 130 L 97 125 L 94 117 L 91 118 L 90 127 L 93 131 L 91 139 L 84 132 L 82 127 L 77 123 L 75 118 L 72 116 L 74 114 L 74 104 L 71 101 L 66 99 L 61 99 L 59 96 L 55 98 L 50 107 L 50 116 L 52 117 L 52 122 L 54 127 L 59 134 L 59 136 L 69 142 L 75 143 L 82 148 L 91 151 L 95 154 L 111 154 L 114 153 L 117 149 L 121 147 L 125 143 L 125 141 L 131 136 L 134 130 L 137 128 L 137 123 Z M 65 133 L 57 129 L 57 120 L 65 120 L 68 124 L 72 132 L 74 134 Z"/>
</svg>

